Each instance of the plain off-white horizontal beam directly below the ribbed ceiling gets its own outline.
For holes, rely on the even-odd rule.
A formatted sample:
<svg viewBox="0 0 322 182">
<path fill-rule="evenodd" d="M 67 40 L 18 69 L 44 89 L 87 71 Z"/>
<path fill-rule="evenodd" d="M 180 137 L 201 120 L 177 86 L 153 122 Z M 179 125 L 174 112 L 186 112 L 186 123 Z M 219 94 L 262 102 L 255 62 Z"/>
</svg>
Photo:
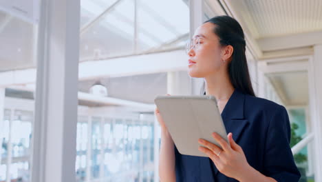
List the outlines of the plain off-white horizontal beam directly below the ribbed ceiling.
<svg viewBox="0 0 322 182">
<path fill-rule="evenodd" d="M 312 46 L 322 43 L 322 31 L 261 38 L 257 39 L 257 43 L 263 51 Z"/>
</svg>

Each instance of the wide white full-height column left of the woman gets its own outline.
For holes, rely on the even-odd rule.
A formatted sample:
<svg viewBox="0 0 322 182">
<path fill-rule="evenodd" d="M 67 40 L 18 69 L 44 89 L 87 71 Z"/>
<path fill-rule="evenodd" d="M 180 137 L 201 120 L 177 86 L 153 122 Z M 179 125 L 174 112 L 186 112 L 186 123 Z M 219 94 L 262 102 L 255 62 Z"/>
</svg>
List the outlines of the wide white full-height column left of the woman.
<svg viewBox="0 0 322 182">
<path fill-rule="evenodd" d="M 76 181 L 79 0 L 43 0 L 32 181 Z"/>
</svg>

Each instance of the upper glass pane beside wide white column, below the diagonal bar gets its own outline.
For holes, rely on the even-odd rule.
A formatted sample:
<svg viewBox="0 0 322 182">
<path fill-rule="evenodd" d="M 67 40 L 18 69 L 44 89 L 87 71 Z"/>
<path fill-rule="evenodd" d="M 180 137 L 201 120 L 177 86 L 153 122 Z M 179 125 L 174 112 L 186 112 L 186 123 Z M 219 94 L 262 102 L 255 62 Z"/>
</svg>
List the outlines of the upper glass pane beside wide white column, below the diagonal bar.
<svg viewBox="0 0 322 182">
<path fill-rule="evenodd" d="M 80 60 L 133 54 L 134 1 L 123 0 L 81 34 Z"/>
</svg>

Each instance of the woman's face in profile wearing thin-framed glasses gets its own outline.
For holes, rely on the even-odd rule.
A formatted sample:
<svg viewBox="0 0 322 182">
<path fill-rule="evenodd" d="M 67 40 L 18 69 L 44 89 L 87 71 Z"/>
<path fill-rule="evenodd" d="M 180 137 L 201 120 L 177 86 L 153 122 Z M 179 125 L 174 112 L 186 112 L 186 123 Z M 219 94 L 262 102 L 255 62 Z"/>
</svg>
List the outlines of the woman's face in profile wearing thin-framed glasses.
<svg viewBox="0 0 322 182">
<path fill-rule="evenodd" d="M 213 32 L 214 28 L 213 23 L 204 23 L 195 30 L 193 45 L 198 42 L 199 45 L 188 52 L 190 77 L 205 78 L 225 69 L 223 48 L 219 38 Z"/>
</svg>

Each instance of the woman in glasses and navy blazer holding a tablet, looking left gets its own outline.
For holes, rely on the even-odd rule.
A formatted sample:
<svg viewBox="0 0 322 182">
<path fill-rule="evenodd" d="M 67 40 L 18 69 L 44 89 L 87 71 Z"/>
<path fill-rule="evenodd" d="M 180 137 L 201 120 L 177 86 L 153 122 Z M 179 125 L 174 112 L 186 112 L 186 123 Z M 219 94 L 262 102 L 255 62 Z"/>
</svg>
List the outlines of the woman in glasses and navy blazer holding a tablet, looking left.
<svg viewBox="0 0 322 182">
<path fill-rule="evenodd" d="M 180 154 L 157 108 L 162 182 L 299 181 L 286 109 L 255 97 L 245 47 L 244 32 L 231 17 L 214 17 L 195 30 L 187 46 L 189 75 L 204 78 L 205 94 L 217 98 L 230 144 L 213 133 L 220 146 L 198 141 L 208 157 Z"/>
</svg>

